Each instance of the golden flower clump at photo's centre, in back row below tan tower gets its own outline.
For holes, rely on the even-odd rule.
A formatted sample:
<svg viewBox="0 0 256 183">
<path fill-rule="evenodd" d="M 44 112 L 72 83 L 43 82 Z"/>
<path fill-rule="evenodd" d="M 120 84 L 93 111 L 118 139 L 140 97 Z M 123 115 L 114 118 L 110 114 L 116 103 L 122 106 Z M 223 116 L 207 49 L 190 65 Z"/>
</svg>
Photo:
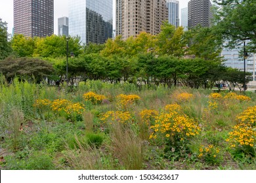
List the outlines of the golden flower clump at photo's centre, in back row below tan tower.
<svg viewBox="0 0 256 183">
<path fill-rule="evenodd" d="M 129 105 L 132 105 L 136 101 L 140 100 L 140 97 L 138 95 L 124 95 L 120 94 L 117 95 L 117 106 L 120 108 L 127 108 Z"/>
</svg>

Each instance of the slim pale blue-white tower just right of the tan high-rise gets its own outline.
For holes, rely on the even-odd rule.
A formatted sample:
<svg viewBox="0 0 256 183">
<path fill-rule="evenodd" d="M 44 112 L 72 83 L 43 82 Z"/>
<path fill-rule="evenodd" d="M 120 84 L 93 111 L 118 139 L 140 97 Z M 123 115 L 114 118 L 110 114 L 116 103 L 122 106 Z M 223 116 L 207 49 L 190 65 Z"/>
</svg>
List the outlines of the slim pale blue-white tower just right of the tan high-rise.
<svg viewBox="0 0 256 183">
<path fill-rule="evenodd" d="M 167 0 L 168 8 L 168 20 L 169 24 L 179 27 L 180 18 L 179 18 L 179 1 L 176 0 Z"/>
</svg>

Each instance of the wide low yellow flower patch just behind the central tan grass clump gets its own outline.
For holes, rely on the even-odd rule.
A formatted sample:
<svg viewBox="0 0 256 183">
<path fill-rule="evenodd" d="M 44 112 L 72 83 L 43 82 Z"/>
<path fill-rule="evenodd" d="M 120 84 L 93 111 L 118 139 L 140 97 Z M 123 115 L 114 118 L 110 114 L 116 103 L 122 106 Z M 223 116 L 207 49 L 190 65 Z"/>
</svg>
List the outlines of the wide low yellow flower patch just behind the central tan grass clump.
<svg viewBox="0 0 256 183">
<path fill-rule="evenodd" d="M 124 124 L 131 121 L 131 114 L 129 112 L 110 110 L 101 114 L 100 121 L 103 123 L 109 122 L 110 124 L 112 122 L 121 122 Z"/>
</svg>

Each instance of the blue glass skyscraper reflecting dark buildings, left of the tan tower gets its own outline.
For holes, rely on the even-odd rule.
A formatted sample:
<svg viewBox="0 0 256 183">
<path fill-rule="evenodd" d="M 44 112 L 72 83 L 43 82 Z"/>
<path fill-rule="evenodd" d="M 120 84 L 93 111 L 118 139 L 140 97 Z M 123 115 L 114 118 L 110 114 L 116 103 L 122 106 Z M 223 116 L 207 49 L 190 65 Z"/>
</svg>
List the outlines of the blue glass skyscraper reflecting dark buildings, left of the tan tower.
<svg viewBox="0 0 256 183">
<path fill-rule="evenodd" d="M 113 33 L 112 0 L 69 0 L 70 36 L 81 38 L 81 43 L 104 43 Z"/>
</svg>

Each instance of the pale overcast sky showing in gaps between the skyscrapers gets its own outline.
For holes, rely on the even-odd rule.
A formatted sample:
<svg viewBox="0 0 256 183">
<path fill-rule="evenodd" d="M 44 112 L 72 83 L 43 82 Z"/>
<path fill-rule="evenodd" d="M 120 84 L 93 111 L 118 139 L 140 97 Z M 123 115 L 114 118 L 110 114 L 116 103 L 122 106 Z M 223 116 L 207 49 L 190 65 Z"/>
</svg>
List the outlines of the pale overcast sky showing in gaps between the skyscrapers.
<svg viewBox="0 0 256 183">
<path fill-rule="evenodd" d="M 68 1 L 69 0 L 54 0 L 54 34 L 58 34 L 58 18 L 68 16 Z M 116 2 L 116 0 L 113 1 Z M 180 9 L 188 7 L 188 1 L 190 0 L 179 0 Z M 102 0 L 102 2 L 104 2 L 104 0 Z M 3 22 L 8 23 L 8 32 L 12 33 L 13 0 L 0 0 L 0 18 L 2 18 Z"/>
</svg>

